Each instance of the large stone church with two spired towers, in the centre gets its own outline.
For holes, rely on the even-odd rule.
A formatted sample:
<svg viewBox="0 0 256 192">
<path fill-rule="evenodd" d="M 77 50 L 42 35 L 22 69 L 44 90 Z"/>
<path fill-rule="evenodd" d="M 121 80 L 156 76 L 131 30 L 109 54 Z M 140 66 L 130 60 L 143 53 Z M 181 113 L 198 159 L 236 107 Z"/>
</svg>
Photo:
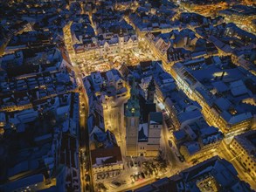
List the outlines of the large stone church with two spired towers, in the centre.
<svg viewBox="0 0 256 192">
<path fill-rule="evenodd" d="M 142 98 L 135 89 L 131 88 L 131 98 L 125 108 L 127 127 L 128 156 L 157 156 L 160 149 L 163 113 L 156 112 L 156 86 L 152 78 L 148 89 L 147 99 Z"/>
</svg>

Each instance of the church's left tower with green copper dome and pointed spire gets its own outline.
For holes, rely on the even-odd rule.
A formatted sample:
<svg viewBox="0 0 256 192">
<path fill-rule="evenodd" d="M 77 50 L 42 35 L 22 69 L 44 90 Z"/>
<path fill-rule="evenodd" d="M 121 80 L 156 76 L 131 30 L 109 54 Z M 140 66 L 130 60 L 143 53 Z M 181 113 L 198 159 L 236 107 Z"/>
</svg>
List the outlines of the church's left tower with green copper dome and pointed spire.
<svg viewBox="0 0 256 192">
<path fill-rule="evenodd" d="M 138 90 L 135 86 L 135 79 L 133 79 L 130 94 L 130 99 L 128 99 L 125 105 L 126 147 L 127 156 L 136 156 L 141 111 L 139 99 L 137 98 Z"/>
</svg>

